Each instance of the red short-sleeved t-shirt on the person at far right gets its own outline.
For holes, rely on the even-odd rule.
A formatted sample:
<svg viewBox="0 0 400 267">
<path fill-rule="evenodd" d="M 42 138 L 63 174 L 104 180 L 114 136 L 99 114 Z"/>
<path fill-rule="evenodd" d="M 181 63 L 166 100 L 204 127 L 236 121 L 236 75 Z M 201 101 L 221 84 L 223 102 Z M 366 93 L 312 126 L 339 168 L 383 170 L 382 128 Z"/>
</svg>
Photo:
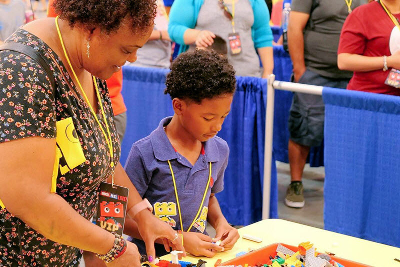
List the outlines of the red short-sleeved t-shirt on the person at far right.
<svg viewBox="0 0 400 267">
<path fill-rule="evenodd" d="M 394 16 L 400 19 L 400 14 Z M 378 2 L 371 2 L 356 8 L 348 15 L 341 30 L 337 53 L 367 57 L 390 56 L 399 48 L 398 42 L 400 42 L 400 31 L 382 6 Z M 400 89 L 384 84 L 388 74 L 388 71 L 383 71 L 382 58 L 382 69 L 354 72 L 347 89 L 400 96 Z"/>
</svg>

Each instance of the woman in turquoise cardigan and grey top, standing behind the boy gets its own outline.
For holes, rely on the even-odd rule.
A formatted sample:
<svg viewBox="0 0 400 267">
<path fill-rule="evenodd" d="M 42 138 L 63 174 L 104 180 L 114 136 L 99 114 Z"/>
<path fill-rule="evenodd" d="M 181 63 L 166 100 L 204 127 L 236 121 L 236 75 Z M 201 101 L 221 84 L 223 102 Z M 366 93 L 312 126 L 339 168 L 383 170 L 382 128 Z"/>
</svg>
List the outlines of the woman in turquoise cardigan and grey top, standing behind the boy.
<svg viewBox="0 0 400 267">
<path fill-rule="evenodd" d="M 185 51 L 186 45 L 191 49 L 208 47 L 218 35 L 228 44 L 227 57 L 236 75 L 266 78 L 272 73 L 273 37 L 264 0 L 175 0 L 169 14 L 168 33 L 180 45 L 179 52 Z M 234 44 L 236 35 L 241 41 L 241 51 Z"/>
</svg>

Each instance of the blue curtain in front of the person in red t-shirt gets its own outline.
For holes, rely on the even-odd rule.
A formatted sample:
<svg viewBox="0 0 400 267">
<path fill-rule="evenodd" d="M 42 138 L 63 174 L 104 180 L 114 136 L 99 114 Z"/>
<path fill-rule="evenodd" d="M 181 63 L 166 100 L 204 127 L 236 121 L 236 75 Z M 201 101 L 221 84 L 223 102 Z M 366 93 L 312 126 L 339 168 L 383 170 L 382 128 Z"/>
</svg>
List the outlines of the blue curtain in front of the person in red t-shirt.
<svg viewBox="0 0 400 267">
<path fill-rule="evenodd" d="M 400 246 L 400 98 L 323 89 L 325 229 Z"/>
</svg>

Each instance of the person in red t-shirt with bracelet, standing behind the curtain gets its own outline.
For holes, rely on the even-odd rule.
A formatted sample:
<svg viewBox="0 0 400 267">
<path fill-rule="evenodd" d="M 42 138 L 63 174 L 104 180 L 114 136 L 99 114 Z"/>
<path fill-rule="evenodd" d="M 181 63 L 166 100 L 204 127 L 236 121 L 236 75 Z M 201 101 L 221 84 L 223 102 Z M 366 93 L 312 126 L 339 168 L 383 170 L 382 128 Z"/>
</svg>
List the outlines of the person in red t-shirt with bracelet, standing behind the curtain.
<svg viewBox="0 0 400 267">
<path fill-rule="evenodd" d="M 337 56 L 339 69 L 354 72 L 347 89 L 400 95 L 385 84 L 389 71 L 400 69 L 399 19 L 400 0 L 372 1 L 347 17 Z"/>
</svg>

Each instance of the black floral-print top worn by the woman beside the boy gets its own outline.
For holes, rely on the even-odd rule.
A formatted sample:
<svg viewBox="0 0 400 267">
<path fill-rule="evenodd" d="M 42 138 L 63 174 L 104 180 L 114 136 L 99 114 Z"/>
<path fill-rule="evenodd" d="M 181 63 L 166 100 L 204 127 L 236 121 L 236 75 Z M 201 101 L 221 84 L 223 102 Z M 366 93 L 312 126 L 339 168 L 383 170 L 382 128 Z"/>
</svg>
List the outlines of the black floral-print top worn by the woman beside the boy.
<svg viewBox="0 0 400 267">
<path fill-rule="evenodd" d="M 45 57 L 53 77 L 47 77 L 43 68 L 28 56 L 0 52 L 0 143 L 32 136 L 55 138 L 56 121 L 71 117 L 86 161 L 63 175 L 58 172 L 56 193 L 81 216 L 90 219 L 96 211 L 98 186 L 111 172 L 106 139 L 51 48 L 23 29 L 18 29 L 6 42 L 33 47 Z M 50 79 L 55 80 L 55 88 Z M 120 145 L 111 102 L 105 82 L 97 79 L 97 85 L 116 163 Z M 97 118 L 105 129 L 100 108 Z M 49 183 L 50 180 L 51 177 Z M 78 266 L 81 252 L 47 239 L 6 208 L 0 210 L 0 266 Z"/>
</svg>

